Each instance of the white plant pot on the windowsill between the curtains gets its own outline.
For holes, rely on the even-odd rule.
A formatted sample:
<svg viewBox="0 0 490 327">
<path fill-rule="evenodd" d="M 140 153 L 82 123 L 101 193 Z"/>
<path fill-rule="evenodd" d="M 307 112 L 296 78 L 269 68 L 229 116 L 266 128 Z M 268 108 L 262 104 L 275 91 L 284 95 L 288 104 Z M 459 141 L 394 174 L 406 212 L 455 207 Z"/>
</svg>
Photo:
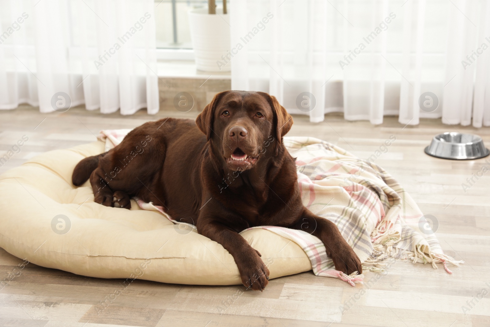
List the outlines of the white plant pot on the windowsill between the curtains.
<svg viewBox="0 0 490 327">
<path fill-rule="evenodd" d="M 192 9 L 189 11 L 189 24 L 191 31 L 196 67 L 200 71 L 229 72 L 231 64 L 219 66 L 230 50 L 230 15 L 223 15 L 223 9 L 217 8 L 217 14 L 208 14 L 208 8 Z"/>
</svg>

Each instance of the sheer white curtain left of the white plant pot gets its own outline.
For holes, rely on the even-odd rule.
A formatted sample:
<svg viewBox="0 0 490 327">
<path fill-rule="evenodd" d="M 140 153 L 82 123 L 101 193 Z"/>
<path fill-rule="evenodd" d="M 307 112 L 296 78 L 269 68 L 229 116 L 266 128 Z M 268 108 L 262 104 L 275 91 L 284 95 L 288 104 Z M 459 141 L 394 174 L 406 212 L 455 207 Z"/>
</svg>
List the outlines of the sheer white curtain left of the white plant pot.
<svg viewBox="0 0 490 327">
<path fill-rule="evenodd" d="M 159 109 L 152 0 L 0 0 L 0 109 Z M 56 101 L 54 101 L 56 103 Z"/>
</svg>

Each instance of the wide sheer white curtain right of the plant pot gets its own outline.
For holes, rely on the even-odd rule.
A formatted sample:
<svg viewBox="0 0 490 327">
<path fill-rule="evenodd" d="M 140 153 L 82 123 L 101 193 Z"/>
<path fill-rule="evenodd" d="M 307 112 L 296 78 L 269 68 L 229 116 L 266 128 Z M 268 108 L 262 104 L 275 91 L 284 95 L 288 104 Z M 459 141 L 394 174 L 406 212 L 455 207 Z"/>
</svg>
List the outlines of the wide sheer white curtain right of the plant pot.
<svg viewBox="0 0 490 327">
<path fill-rule="evenodd" d="M 269 92 L 312 122 L 341 111 L 372 124 L 490 126 L 490 1 L 230 4 L 232 89 Z"/>
</svg>

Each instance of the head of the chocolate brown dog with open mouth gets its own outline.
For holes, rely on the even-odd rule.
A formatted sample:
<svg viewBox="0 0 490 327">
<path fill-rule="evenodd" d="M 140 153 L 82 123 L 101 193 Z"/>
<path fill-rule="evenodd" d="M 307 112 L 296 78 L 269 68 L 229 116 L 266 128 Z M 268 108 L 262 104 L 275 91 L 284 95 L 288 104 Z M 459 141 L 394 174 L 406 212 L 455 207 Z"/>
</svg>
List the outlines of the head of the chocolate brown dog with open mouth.
<svg viewBox="0 0 490 327">
<path fill-rule="evenodd" d="M 274 153 L 293 117 L 267 93 L 225 91 L 204 108 L 196 124 L 228 169 L 244 171 L 266 152 Z"/>
</svg>

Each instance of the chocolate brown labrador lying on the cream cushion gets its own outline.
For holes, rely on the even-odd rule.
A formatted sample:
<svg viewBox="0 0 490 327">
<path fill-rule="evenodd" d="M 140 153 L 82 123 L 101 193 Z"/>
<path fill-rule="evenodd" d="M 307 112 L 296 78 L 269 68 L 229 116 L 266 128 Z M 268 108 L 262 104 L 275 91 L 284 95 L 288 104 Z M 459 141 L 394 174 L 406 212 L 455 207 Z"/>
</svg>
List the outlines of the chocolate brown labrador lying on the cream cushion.
<svg viewBox="0 0 490 327">
<path fill-rule="evenodd" d="M 239 232 L 252 226 L 301 229 L 325 244 L 335 269 L 362 272 L 361 262 L 328 219 L 301 202 L 294 158 L 282 137 L 293 125 L 263 92 L 225 91 L 197 116 L 133 129 L 114 149 L 80 161 L 73 184 L 89 177 L 95 201 L 129 209 L 138 196 L 174 220 L 194 224 L 233 258 L 242 282 L 263 290 L 269 270 Z"/>
</svg>

